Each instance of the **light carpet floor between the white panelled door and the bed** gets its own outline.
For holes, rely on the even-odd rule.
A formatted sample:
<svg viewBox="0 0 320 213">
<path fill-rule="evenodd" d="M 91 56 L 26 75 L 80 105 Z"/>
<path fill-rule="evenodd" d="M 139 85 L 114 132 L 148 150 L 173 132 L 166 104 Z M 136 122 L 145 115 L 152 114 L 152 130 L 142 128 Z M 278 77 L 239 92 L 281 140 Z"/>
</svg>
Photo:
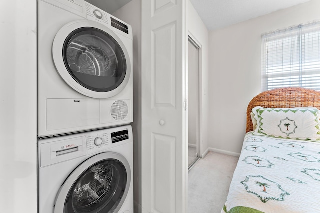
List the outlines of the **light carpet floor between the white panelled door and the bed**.
<svg viewBox="0 0 320 213">
<path fill-rule="evenodd" d="M 200 159 L 188 173 L 188 213 L 220 213 L 238 157 L 216 152 Z"/>
</svg>

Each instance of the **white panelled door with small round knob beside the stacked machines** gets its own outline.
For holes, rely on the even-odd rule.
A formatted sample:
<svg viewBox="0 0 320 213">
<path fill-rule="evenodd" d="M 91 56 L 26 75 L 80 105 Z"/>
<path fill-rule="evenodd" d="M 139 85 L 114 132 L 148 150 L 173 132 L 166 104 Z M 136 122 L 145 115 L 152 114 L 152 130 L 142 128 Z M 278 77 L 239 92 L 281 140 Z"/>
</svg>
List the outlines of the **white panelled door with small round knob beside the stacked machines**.
<svg viewBox="0 0 320 213">
<path fill-rule="evenodd" d="M 185 0 L 142 0 L 142 213 L 184 213 Z"/>
</svg>

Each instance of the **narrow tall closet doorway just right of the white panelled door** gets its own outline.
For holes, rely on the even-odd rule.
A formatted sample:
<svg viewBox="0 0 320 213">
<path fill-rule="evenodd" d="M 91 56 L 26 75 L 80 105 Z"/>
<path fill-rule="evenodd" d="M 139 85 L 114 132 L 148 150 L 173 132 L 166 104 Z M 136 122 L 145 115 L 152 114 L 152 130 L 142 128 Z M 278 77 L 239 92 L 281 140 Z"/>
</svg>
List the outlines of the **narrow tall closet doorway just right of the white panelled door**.
<svg viewBox="0 0 320 213">
<path fill-rule="evenodd" d="M 200 159 L 199 49 L 200 46 L 188 36 L 188 170 Z"/>
</svg>

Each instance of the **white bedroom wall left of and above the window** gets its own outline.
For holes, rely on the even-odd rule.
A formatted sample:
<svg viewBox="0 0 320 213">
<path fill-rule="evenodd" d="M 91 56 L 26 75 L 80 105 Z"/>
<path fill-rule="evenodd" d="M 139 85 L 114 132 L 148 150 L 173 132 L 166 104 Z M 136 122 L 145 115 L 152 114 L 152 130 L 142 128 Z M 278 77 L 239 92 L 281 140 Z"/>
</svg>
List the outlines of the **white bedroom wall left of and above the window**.
<svg viewBox="0 0 320 213">
<path fill-rule="evenodd" d="M 209 147 L 237 155 L 246 107 L 261 92 L 261 34 L 320 19 L 312 0 L 209 33 Z"/>
</svg>

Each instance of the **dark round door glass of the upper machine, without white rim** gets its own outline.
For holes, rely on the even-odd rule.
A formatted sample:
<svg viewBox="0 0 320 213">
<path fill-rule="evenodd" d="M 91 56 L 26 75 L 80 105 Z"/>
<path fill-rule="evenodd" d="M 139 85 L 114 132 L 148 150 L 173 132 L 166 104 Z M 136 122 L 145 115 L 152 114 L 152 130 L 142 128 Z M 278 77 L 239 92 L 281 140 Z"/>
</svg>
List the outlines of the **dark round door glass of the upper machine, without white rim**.
<svg viewBox="0 0 320 213">
<path fill-rule="evenodd" d="M 75 81 L 96 92 L 114 90 L 126 75 L 127 62 L 119 43 L 93 27 L 78 28 L 67 36 L 63 61 Z"/>
</svg>

